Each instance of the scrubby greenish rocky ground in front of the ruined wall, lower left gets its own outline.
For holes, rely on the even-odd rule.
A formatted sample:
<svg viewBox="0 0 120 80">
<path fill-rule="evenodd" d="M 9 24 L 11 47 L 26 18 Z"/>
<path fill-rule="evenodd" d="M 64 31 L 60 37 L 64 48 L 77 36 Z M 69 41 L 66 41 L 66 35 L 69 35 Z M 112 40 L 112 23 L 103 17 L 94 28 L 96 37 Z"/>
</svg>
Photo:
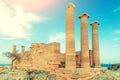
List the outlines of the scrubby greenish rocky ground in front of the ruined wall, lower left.
<svg viewBox="0 0 120 80">
<path fill-rule="evenodd" d="M 55 80 L 54 74 L 46 71 L 26 71 L 23 69 L 2 70 L 0 71 L 0 80 Z"/>
</svg>

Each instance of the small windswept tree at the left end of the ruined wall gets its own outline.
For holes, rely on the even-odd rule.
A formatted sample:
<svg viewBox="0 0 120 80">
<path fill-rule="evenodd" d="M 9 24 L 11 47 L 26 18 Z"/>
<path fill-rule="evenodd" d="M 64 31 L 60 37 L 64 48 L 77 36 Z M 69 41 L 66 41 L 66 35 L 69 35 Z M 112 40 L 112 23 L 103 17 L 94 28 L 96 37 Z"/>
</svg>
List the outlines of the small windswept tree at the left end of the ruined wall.
<svg viewBox="0 0 120 80">
<path fill-rule="evenodd" d="M 17 51 L 15 53 L 11 53 L 11 52 L 3 52 L 3 55 L 6 56 L 7 58 L 12 59 L 12 65 L 11 65 L 11 69 L 13 69 L 13 62 L 15 60 L 20 60 L 21 57 L 20 55 L 17 53 Z"/>
</svg>

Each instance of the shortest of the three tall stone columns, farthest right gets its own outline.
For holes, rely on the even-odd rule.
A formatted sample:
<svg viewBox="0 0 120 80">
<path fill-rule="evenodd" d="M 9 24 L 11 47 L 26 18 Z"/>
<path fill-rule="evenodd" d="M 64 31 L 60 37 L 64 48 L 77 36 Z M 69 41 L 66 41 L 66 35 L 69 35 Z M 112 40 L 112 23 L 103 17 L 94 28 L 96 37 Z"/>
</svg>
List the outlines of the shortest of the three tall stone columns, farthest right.
<svg viewBox="0 0 120 80">
<path fill-rule="evenodd" d="M 92 26 L 92 48 L 94 55 L 94 66 L 100 67 L 100 55 L 99 55 L 99 39 L 98 39 L 98 22 L 91 23 Z"/>
</svg>

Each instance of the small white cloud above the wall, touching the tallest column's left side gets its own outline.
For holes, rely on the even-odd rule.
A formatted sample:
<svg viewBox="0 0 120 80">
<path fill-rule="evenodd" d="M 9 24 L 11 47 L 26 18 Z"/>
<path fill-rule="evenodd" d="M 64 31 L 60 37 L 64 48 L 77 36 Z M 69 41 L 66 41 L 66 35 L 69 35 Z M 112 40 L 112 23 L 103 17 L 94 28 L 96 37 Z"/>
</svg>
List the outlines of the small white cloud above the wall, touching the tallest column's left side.
<svg viewBox="0 0 120 80">
<path fill-rule="evenodd" d="M 59 32 L 50 35 L 49 42 L 59 42 L 61 45 L 61 51 L 65 52 L 65 33 Z"/>
</svg>

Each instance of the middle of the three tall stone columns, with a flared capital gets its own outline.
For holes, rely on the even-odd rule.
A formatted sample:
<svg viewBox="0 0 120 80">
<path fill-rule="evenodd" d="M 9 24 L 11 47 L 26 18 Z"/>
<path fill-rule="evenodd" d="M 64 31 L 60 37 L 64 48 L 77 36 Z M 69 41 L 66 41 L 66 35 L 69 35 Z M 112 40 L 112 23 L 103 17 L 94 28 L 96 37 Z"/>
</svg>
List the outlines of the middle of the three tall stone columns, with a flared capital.
<svg viewBox="0 0 120 80">
<path fill-rule="evenodd" d="M 81 68 L 88 68 L 89 50 L 88 50 L 88 14 L 84 13 L 79 16 L 81 19 Z"/>
</svg>

